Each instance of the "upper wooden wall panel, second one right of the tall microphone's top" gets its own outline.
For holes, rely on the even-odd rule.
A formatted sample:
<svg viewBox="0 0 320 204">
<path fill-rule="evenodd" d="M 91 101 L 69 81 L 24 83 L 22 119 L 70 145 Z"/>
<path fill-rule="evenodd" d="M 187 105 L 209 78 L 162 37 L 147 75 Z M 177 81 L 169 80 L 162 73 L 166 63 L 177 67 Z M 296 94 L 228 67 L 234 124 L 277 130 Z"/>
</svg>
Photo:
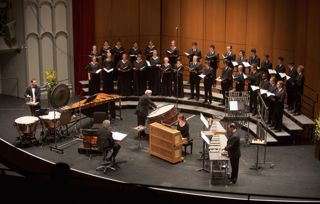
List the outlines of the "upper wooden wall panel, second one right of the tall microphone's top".
<svg viewBox="0 0 320 204">
<path fill-rule="evenodd" d="M 226 0 L 206 0 L 205 11 L 205 39 L 224 42 L 226 35 Z"/>
</svg>

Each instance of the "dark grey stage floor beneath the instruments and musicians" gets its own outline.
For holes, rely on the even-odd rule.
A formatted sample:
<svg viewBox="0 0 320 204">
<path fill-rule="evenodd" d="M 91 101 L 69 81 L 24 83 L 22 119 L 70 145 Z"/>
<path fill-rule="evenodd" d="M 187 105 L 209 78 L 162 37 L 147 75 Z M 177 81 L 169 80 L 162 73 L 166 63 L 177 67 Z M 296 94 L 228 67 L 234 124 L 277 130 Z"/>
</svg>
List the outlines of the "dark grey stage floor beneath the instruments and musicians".
<svg viewBox="0 0 320 204">
<path fill-rule="evenodd" d="M 79 99 L 81 98 L 75 96 L 70 99 L 70 102 L 76 102 Z M 30 116 L 30 109 L 24 105 L 25 103 L 26 101 L 23 99 L 0 95 L 0 128 L 2 130 L 0 137 L 14 145 L 19 144 L 19 142 L 15 141 L 15 138 L 19 135 L 13 126 L 14 120 L 22 116 Z M 46 108 L 47 104 L 46 100 L 42 100 L 42 108 Z M 78 148 L 83 148 L 82 141 L 75 141 L 61 147 L 64 149 L 64 154 L 50 151 L 49 145 L 44 145 L 42 148 L 40 148 L 41 145 L 38 145 L 33 148 L 24 148 L 24 150 L 54 163 L 68 163 L 70 168 L 75 170 L 133 184 L 156 185 L 160 188 L 162 186 L 170 186 L 172 188 L 185 188 L 200 192 L 203 190 L 221 193 L 250 193 L 320 199 L 320 194 L 318 193 L 320 187 L 320 163 L 314 158 L 315 145 L 310 140 L 302 141 L 300 144 L 292 146 L 267 147 L 266 162 L 274 162 L 274 168 L 270 168 L 268 164 L 258 165 L 262 167 L 260 174 L 255 170 L 250 170 L 256 162 L 257 147 L 244 146 L 244 141 L 241 140 L 241 159 L 237 183 L 232 186 L 226 186 L 225 180 L 215 178 L 213 185 L 209 185 L 210 173 L 204 171 L 196 172 L 196 170 L 203 167 L 202 161 L 197 160 L 200 156 L 199 152 L 202 152 L 203 149 L 203 141 L 199 137 L 199 132 L 203 130 L 203 123 L 199 115 L 188 120 L 190 138 L 194 140 L 193 154 L 190 154 L 190 146 L 187 147 L 186 156 L 182 151 L 184 161 L 173 165 L 149 154 L 148 138 L 141 140 L 142 149 L 137 148 L 136 144 L 139 142 L 139 138 L 137 133 L 131 130 L 132 127 L 137 126 L 137 117 L 133 113 L 134 109 L 122 110 L 123 120 L 116 120 L 116 126 L 113 123 L 110 125 L 111 131 L 128 133 L 129 136 L 120 143 L 121 149 L 116 157 L 117 162 L 127 161 L 127 163 L 121 164 L 120 168 L 116 168 L 115 171 L 108 171 L 107 174 L 96 171 L 102 156 L 94 156 L 88 160 L 85 159 L 86 155 L 78 154 Z M 186 117 L 192 116 L 192 114 L 185 115 Z M 224 124 L 222 123 L 222 125 Z M 71 132 L 73 128 L 74 126 L 69 131 Z M 90 128 L 90 118 L 82 120 L 82 128 Z M 40 132 L 41 125 L 38 124 L 36 138 L 41 141 Z M 239 132 L 243 138 L 244 131 L 240 130 Z M 80 132 L 75 132 L 74 134 L 79 135 Z M 252 135 L 250 135 L 250 139 L 253 139 Z M 71 140 L 68 139 L 67 142 Z M 54 141 L 49 141 L 50 146 L 54 146 Z M 57 146 L 67 142 L 63 139 L 57 143 Z M 260 147 L 259 162 L 263 162 L 263 153 L 264 148 Z M 204 168 L 210 170 L 209 161 L 206 162 Z M 231 167 L 229 172 L 231 173 Z M 216 174 L 216 176 L 222 176 L 222 174 Z M 188 190 L 184 192 L 188 193 Z M 213 195 L 210 192 L 203 194 Z M 230 197 L 230 195 L 226 196 Z"/>
</svg>

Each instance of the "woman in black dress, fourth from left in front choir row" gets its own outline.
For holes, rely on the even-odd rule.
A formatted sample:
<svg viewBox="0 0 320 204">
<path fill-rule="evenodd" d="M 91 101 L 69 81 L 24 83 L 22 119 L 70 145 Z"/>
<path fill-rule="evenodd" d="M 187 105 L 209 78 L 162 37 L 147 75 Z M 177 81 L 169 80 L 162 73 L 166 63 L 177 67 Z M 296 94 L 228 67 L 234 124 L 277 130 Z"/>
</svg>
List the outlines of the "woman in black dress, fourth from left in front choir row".
<svg viewBox="0 0 320 204">
<path fill-rule="evenodd" d="M 142 96 L 147 90 L 147 83 L 144 80 L 144 72 L 146 72 L 147 63 L 141 60 L 141 55 L 137 55 L 137 60 L 133 62 L 133 95 Z M 140 70 L 144 67 L 142 70 Z"/>
</svg>

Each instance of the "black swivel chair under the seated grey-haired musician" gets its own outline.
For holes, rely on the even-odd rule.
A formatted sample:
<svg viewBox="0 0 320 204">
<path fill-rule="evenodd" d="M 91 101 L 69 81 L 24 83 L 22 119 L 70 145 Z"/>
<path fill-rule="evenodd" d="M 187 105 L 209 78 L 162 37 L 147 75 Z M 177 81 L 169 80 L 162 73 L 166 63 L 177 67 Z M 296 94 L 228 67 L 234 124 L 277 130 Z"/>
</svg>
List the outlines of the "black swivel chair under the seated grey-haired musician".
<svg viewBox="0 0 320 204">
<path fill-rule="evenodd" d="M 99 163 L 99 167 L 98 168 L 96 168 L 96 170 L 98 170 L 98 169 L 100 169 L 100 168 L 103 168 L 104 169 L 104 171 L 103 171 L 103 173 L 106 173 L 106 170 L 108 169 L 108 170 L 115 170 L 114 168 L 112 168 L 112 166 L 113 166 L 113 163 L 108 163 L 108 152 L 110 151 L 110 150 L 113 150 L 113 144 L 111 144 L 111 142 L 110 142 L 110 139 L 108 139 L 108 138 L 104 138 L 104 137 L 99 137 L 98 139 L 97 139 L 97 143 L 96 143 L 97 145 L 98 145 L 98 149 L 99 150 L 102 150 L 102 155 L 103 155 L 103 163 L 102 164 L 100 164 Z"/>
</svg>

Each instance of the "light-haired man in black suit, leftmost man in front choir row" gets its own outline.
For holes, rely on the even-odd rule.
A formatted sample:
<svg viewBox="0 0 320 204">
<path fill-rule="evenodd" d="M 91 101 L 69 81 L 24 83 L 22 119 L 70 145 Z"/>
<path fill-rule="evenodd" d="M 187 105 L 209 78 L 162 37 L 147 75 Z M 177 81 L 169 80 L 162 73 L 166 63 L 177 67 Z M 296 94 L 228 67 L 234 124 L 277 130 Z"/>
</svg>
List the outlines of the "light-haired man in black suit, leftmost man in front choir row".
<svg viewBox="0 0 320 204">
<path fill-rule="evenodd" d="M 188 98 L 188 100 L 190 99 L 194 99 L 194 88 L 196 86 L 196 101 L 199 101 L 199 97 L 200 97 L 200 80 L 201 77 L 199 77 L 199 75 L 202 72 L 202 64 L 200 62 L 197 61 L 197 56 L 193 56 L 193 62 L 190 62 L 189 66 L 189 80 L 190 80 L 190 98 Z"/>
</svg>

